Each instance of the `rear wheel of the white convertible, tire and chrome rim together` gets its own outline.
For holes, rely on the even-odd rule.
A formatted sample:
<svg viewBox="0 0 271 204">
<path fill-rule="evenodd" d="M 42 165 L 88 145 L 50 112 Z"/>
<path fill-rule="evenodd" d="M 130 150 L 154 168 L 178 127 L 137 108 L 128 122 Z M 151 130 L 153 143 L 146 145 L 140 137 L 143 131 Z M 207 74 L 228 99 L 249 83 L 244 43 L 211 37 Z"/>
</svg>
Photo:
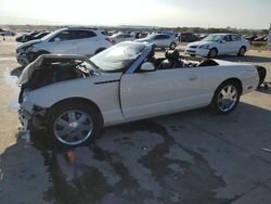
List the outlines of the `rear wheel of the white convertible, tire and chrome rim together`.
<svg viewBox="0 0 271 204">
<path fill-rule="evenodd" d="M 240 102 L 241 92 L 242 88 L 235 81 L 221 84 L 211 100 L 212 112 L 220 115 L 232 113 Z"/>
</svg>

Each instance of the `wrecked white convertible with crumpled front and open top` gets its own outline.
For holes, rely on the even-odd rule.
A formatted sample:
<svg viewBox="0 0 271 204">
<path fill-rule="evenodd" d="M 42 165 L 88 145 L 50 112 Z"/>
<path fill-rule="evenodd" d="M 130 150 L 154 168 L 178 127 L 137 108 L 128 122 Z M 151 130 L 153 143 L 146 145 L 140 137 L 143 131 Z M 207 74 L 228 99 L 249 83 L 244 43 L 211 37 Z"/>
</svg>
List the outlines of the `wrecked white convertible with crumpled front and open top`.
<svg viewBox="0 0 271 204">
<path fill-rule="evenodd" d="M 259 84 L 254 65 L 191 60 L 177 50 L 155 59 L 142 42 L 120 42 L 90 59 L 41 55 L 18 79 L 20 119 L 75 146 L 115 124 L 208 105 L 228 114 Z"/>
</svg>

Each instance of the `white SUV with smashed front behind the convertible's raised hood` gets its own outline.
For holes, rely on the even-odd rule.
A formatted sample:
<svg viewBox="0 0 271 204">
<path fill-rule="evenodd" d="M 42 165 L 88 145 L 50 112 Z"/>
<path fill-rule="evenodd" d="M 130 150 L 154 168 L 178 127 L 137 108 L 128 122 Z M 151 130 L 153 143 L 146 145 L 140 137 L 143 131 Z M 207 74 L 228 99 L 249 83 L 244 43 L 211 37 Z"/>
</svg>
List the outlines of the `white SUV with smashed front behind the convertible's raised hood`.
<svg viewBox="0 0 271 204">
<path fill-rule="evenodd" d="M 16 49 L 16 58 L 26 66 L 41 54 L 81 54 L 91 56 L 111 47 L 105 33 L 93 27 L 66 27 L 57 29 L 39 40 L 23 43 Z"/>
</svg>

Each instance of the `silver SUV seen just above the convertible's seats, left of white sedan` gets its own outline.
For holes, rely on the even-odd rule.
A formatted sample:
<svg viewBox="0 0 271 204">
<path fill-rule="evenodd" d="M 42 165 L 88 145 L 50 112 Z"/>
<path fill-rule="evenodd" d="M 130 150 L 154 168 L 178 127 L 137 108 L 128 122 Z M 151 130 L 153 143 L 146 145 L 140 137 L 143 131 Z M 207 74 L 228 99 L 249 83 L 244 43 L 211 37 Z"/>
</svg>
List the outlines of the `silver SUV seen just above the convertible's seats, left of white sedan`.
<svg viewBox="0 0 271 204">
<path fill-rule="evenodd" d="M 149 42 L 152 43 L 155 48 L 170 48 L 175 49 L 177 47 L 177 40 L 175 35 L 168 34 L 152 34 L 145 38 L 136 40 L 138 42 Z"/>
</svg>

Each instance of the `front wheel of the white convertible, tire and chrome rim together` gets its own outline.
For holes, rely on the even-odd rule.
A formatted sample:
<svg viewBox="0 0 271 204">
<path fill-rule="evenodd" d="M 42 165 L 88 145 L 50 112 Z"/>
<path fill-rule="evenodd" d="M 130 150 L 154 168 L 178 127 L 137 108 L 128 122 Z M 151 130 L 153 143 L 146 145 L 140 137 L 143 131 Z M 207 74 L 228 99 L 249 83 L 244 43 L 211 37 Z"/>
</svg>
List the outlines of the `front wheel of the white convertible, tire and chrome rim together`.
<svg viewBox="0 0 271 204">
<path fill-rule="evenodd" d="M 98 110 L 86 103 L 59 104 L 48 116 L 49 136 L 61 146 L 85 145 L 99 136 L 101 127 Z"/>
</svg>

